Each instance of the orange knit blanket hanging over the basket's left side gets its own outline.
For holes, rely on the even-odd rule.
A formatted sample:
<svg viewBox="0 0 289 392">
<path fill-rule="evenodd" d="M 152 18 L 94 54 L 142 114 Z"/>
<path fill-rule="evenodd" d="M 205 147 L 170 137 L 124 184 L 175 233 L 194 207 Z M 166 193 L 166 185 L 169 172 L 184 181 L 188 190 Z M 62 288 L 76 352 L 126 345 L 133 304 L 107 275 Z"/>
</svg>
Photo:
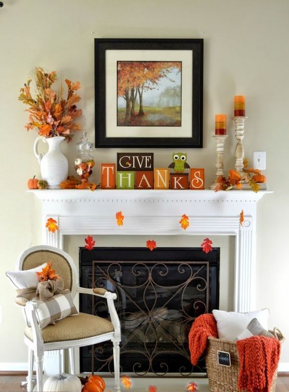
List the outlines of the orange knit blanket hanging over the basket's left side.
<svg viewBox="0 0 289 392">
<path fill-rule="evenodd" d="M 217 326 L 214 316 L 205 313 L 196 318 L 189 333 L 189 348 L 193 365 L 198 363 L 205 351 L 209 336 L 218 337 Z"/>
</svg>

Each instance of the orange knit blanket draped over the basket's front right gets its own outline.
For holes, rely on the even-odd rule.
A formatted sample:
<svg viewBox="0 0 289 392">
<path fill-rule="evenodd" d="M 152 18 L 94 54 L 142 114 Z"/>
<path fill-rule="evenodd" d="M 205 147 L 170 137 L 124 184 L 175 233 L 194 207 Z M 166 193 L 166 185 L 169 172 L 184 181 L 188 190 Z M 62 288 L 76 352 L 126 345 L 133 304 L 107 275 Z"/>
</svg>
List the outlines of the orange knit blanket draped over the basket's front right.
<svg viewBox="0 0 289 392">
<path fill-rule="evenodd" d="M 275 338 L 252 336 L 237 341 L 240 360 L 238 388 L 248 392 L 269 392 L 280 357 Z"/>
</svg>

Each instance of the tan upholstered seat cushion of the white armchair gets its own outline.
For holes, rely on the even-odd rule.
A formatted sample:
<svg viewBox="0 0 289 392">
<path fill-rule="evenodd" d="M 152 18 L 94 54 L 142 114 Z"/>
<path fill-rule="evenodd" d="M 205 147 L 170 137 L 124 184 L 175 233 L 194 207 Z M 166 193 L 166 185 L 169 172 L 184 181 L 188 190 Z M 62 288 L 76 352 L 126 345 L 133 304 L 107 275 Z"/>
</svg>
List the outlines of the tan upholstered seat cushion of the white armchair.
<svg viewBox="0 0 289 392">
<path fill-rule="evenodd" d="M 113 332 L 112 323 L 105 318 L 87 313 L 79 313 L 56 321 L 55 325 L 47 325 L 42 331 L 44 343 L 61 342 L 91 338 Z M 24 335 L 33 341 L 32 330 L 26 326 Z"/>
</svg>

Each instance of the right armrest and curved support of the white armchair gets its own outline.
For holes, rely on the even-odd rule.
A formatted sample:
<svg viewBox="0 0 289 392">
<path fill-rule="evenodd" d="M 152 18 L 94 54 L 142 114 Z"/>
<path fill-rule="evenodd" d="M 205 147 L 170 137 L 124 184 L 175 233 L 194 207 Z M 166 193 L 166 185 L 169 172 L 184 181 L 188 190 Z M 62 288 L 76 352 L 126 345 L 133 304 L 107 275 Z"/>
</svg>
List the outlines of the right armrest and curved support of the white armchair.
<svg viewBox="0 0 289 392">
<path fill-rule="evenodd" d="M 99 290 L 102 290 L 101 293 L 103 293 L 103 294 L 99 294 Z M 115 293 L 111 293 L 110 291 L 107 291 L 106 289 L 99 289 L 99 288 L 85 289 L 84 287 L 77 287 L 76 293 L 91 294 L 91 295 L 95 295 L 97 297 L 105 298 L 107 300 L 111 323 L 114 328 L 114 338 L 116 341 L 119 341 L 120 340 L 120 321 L 119 321 L 118 314 L 116 312 L 114 302 L 113 302 L 117 298 L 117 295 Z"/>
</svg>

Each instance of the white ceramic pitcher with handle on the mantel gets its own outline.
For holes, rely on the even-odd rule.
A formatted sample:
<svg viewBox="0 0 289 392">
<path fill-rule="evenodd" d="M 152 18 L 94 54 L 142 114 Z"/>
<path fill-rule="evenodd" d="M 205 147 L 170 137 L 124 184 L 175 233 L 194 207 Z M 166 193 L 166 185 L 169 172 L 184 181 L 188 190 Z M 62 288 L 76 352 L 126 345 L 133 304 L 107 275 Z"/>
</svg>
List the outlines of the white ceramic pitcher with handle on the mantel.
<svg viewBox="0 0 289 392">
<path fill-rule="evenodd" d="M 67 179 L 68 161 L 60 151 L 60 143 L 65 137 L 54 136 L 53 138 L 44 138 L 39 136 L 33 146 L 34 155 L 40 165 L 41 177 L 48 182 L 49 189 L 59 189 L 60 182 Z M 42 140 L 48 143 L 48 151 L 45 155 L 38 154 L 38 143 Z"/>
</svg>

